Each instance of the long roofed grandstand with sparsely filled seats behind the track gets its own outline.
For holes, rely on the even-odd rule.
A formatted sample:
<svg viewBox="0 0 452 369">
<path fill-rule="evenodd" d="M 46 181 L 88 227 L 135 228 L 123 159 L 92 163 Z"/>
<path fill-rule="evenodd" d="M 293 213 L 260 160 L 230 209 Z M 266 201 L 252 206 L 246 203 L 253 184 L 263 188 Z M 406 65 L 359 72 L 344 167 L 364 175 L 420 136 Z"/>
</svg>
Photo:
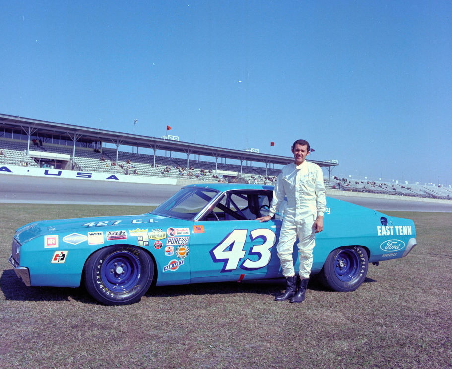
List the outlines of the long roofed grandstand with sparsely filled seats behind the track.
<svg viewBox="0 0 452 369">
<path fill-rule="evenodd" d="M 120 146 L 129 148 L 132 152 L 122 151 Z M 142 153 L 138 153 L 139 149 Z M 0 166 L 19 165 L 129 176 L 167 177 L 184 180 L 186 183 L 220 181 L 273 184 L 280 168 L 293 160 L 292 157 L 170 141 L 165 138 L 111 132 L 4 114 L 0 114 L 0 150 Z M 152 153 L 145 153 L 146 151 Z M 173 157 L 173 154 L 176 154 L 176 157 Z M 186 158 L 178 157 L 183 154 Z M 201 155 L 208 160 L 201 160 Z M 325 176 L 327 189 L 452 198 L 450 187 L 363 181 L 337 176 L 331 178 L 332 168 L 338 165 L 336 161 L 311 161 L 327 170 L 328 176 Z"/>
</svg>

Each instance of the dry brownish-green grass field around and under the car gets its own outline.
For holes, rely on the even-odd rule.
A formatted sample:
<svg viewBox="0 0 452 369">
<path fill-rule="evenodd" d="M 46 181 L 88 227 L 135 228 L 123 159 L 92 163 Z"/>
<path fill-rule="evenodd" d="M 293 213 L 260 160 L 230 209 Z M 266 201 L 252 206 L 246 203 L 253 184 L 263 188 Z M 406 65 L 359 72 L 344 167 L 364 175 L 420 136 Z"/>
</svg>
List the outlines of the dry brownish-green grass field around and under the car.
<svg viewBox="0 0 452 369">
<path fill-rule="evenodd" d="M 145 211 L 1 205 L 1 368 L 451 368 L 450 213 L 387 212 L 414 220 L 418 246 L 351 293 L 311 281 L 303 304 L 274 302 L 280 284 L 217 283 L 108 307 L 83 288 L 26 287 L 7 262 L 30 221 Z"/>
</svg>

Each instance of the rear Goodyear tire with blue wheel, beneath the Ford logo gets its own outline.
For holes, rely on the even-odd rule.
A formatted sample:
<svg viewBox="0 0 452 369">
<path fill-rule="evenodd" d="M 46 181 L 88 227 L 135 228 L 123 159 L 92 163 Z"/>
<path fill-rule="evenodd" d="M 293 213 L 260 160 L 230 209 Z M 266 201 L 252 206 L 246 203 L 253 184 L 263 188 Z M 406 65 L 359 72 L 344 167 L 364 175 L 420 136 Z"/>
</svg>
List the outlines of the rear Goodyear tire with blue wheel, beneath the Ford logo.
<svg viewBox="0 0 452 369">
<path fill-rule="evenodd" d="M 366 279 L 368 266 L 369 260 L 364 247 L 337 248 L 326 258 L 319 280 L 334 291 L 355 291 Z"/>
</svg>

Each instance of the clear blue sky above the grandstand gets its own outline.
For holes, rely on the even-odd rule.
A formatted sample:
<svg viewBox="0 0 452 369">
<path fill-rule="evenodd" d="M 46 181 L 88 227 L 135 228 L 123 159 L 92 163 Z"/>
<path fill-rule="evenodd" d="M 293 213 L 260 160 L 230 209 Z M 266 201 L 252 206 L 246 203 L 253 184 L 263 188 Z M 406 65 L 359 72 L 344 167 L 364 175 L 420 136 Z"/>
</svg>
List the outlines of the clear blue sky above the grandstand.
<svg viewBox="0 0 452 369">
<path fill-rule="evenodd" d="M 452 184 L 451 1 L 0 0 L 0 35 L 3 114 Z"/>
</svg>

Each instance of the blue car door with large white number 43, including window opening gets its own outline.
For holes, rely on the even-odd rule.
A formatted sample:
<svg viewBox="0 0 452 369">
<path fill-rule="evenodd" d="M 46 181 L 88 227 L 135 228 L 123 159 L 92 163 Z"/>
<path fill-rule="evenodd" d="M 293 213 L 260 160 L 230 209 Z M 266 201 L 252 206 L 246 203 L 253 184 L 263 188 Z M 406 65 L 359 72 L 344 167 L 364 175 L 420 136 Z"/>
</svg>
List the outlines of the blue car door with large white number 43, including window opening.
<svg viewBox="0 0 452 369">
<path fill-rule="evenodd" d="M 230 191 L 218 200 L 191 236 L 191 282 L 274 278 L 280 273 L 279 219 L 256 220 L 268 211 L 268 191 Z"/>
</svg>

